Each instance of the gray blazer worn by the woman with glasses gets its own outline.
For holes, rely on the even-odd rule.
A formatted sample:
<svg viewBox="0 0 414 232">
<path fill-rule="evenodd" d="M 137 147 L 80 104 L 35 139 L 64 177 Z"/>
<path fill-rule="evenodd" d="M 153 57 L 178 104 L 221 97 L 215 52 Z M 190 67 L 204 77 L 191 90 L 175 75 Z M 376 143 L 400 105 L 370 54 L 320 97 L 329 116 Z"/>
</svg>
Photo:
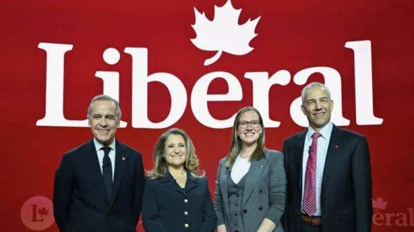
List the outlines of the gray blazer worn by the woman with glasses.
<svg viewBox="0 0 414 232">
<path fill-rule="evenodd" d="M 219 162 L 215 187 L 214 209 L 217 215 L 217 226 L 226 224 L 229 228 L 227 178 L 232 167 L 226 167 L 227 158 Z M 280 218 L 284 213 L 286 199 L 286 175 L 283 166 L 283 154 L 275 150 L 267 150 L 266 156 L 253 160 L 246 174 L 246 186 L 242 204 L 242 220 L 247 232 L 259 229 L 264 218 L 276 224 L 273 231 L 283 232 Z"/>
</svg>

